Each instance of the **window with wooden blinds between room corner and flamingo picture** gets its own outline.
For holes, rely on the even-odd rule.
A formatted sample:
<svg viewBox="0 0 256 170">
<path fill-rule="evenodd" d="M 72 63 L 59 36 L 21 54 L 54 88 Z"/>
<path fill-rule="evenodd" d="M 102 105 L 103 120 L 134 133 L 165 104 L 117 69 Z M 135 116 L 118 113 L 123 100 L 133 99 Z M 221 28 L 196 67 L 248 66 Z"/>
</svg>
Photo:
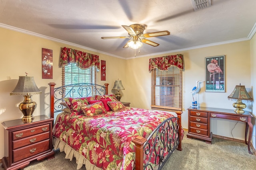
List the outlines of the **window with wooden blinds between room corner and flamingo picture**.
<svg viewBox="0 0 256 170">
<path fill-rule="evenodd" d="M 151 108 L 182 111 L 182 70 L 171 66 L 168 70 L 151 71 Z"/>
</svg>

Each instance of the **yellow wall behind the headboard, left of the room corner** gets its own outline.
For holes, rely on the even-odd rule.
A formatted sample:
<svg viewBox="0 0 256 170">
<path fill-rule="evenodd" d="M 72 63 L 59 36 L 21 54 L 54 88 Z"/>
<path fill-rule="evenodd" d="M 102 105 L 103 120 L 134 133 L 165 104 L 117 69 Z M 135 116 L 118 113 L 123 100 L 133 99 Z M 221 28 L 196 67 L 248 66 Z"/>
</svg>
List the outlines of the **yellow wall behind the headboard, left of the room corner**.
<svg viewBox="0 0 256 170">
<path fill-rule="evenodd" d="M 23 117 L 22 112 L 17 107 L 23 102 L 23 96 L 10 96 L 10 92 L 14 90 L 19 76 L 34 76 L 34 80 L 42 94 L 32 96 L 32 100 L 36 102 L 37 108 L 34 111 L 36 115 L 49 116 L 49 82 L 55 82 L 56 87 L 61 85 L 61 71 L 58 67 L 60 48 L 69 47 L 80 51 L 85 51 L 95 55 L 99 55 L 100 60 L 106 61 L 106 81 L 100 81 L 100 72 L 98 72 L 98 84 L 104 85 L 109 83 L 109 92 L 112 91 L 114 81 L 120 78 L 122 83 L 126 84 L 125 70 L 126 60 L 101 54 L 95 51 L 72 47 L 56 41 L 50 41 L 40 37 L 27 35 L 24 33 L 0 28 L 0 122 L 20 119 Z M 42 79 L 42 48 L 53 50 L 53 79 Z M 118 71 L 116 71 L 118 70 Z M 126 92 L 123 90 L 122 100 L 126 100 Z M 128 99 L 127 99 L 128 100 Z M 0 159 L 4 156 L 4 128 L 0 125 Z"/>
</svg>

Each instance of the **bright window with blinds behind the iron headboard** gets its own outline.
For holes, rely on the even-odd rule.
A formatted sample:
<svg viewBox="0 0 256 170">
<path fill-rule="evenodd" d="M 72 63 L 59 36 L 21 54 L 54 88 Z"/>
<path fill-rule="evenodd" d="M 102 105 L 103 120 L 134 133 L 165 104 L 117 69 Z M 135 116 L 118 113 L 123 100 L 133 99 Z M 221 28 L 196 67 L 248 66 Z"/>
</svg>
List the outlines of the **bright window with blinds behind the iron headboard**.
<svg viewBox="0 0 256 170">
<path fill-rule="evenodd" d="M 66 66 L 62 66 L 62 86 L 66 86 L 69 84 L 77 84 L 77 83 L 91 83 L 97 84 L 97 67 L 91 66 L 86 70 L 79 68 L 76 66 L 76 63 L 70 63 Z M 77 86 L 76 89 L 72 89 L 73 86 L 66 86 L 65 91 L 67 90 L 79 90 L 80 86 Z M 77 92 L 74 94 L 77 94 Z M 78 98 L 81 96 L 73 96 L 74 98 Z M 93 94 L 91 94 L 93 96 Z"/>
</svg>

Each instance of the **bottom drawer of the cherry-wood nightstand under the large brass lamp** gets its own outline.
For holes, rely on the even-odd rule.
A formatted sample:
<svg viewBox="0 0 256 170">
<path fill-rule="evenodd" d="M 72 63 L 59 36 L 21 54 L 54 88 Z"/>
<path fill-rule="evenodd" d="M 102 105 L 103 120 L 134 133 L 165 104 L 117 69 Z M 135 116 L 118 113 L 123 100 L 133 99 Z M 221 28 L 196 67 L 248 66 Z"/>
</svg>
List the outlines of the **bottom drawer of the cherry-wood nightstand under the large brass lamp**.
<svg viewBox="0 0 256 170">
<path fill-rule="evenodd" d="M 46 150 L 49 150 L 50 140 L 42 141 L 33 145 L 29 145 L 27 147 L 23 147 L 20 149 L 16 149 L 13 151 L 13 162 L 17 162 L 19 160 L 23 160 L 25 158 L 28 158 L 30 156 L 39 154 L 41 152 L 44 152 Z"/>
</svg>

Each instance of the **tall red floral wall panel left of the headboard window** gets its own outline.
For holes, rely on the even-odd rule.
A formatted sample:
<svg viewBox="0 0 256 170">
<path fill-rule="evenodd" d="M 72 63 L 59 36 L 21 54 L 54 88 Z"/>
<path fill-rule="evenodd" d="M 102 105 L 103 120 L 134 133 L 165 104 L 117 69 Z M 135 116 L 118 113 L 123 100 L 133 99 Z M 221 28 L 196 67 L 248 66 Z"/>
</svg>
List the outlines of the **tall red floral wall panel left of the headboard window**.
<svg viewBox="0 0 256 170">
<path fill-rule="evenodd" d="M 52 50 L 42 48 L 42 78 L 52 79 Z"/>
</svg>

